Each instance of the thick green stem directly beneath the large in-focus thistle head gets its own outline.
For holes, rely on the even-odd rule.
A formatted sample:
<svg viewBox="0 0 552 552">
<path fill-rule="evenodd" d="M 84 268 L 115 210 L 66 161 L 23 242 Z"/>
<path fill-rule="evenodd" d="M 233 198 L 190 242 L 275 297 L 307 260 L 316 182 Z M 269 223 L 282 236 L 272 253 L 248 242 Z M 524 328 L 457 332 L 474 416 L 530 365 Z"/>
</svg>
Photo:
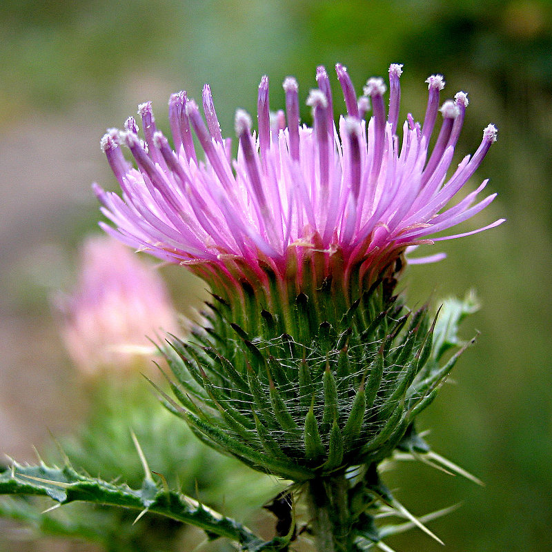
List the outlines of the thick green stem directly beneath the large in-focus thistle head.
<svg viewBox="0 0 552 552">
<path fill-rule="evenodd" d="M 308 507 L 317 552 L 350 552 L 351 522 L 348 482 L 344 474 L 308 482 Z"/>
</svg>

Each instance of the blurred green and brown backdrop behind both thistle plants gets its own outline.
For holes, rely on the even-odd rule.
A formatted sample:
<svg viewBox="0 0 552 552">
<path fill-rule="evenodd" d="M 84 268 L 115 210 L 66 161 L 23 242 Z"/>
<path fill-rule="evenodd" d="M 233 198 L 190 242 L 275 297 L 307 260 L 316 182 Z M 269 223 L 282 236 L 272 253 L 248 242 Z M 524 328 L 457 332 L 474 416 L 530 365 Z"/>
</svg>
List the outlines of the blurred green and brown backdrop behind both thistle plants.
<svg viewBox="0 0 552 552">
<path fill-rule="evenodd" d="M 449 552 L 540 552 L 552 544 L 552 6 L 549 0 L 3 0 L 0 5 L 0 451 L 34 461 L 49 432 L 86 415 L 87 395 L 58 336 L 49 297 L 75 282 L 77 247 L 98 232 L 90 184 L 115 189 L 99 150 L 152 100 L 168 132 L 167 101 L 199 98 L 210 83 L 224 135 L 235 108 L 255 111 L 257 84 L 299 80 L 315 68 L 348 67 L 357 91 L 389 63 L 404 63 L 400 118 L 423 119 L 424 79 L 442 73 L 443 97 L 471 100 L 460 159 L 492 122 L 498 141 L 471 188 L 491 177 L 499 195 L 462 231 L 498 217 L 489 232 L 428 247 L 448 259 L 408 270 L 409 304 L 475 288 L 480 313 L 464 323 L 477 346 L 422 415 L 442 455 L 484 488 L 422 464 L 386 474 L 415 514 L 462 502 L 433 522 Z M 334 90 L 337 92 L 337 79 Z M 339 104 L 337 104 L 339 105 Z M 302 118 L 310 121 L 306 106 Z M 164 268 L 181 313 L 199 304 L 201 282 Z M 11 530 L 10 530 L 11 531 Z M 0 550 L 32 551 L 17 531 Z M 5 539 L 5 542 L 3 541 Z M 397 551 L 440 545 L 411 531 Z M 60 545 L 61 546 L 61 545 Z M 48 548 L 46 548 L 48 549 Z M 62 550 L 61 547 L 57 548 Z"/>
</svg>

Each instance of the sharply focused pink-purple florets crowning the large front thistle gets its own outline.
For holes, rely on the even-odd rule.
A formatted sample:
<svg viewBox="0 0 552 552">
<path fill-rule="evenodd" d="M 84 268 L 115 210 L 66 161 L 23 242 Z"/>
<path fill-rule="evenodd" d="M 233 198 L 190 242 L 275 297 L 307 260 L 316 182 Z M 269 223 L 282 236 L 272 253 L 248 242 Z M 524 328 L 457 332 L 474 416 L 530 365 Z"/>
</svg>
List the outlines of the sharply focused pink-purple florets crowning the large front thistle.
<svg viewBox="0 0 552 552">
<path fill-rule="evenodd" d="M 485 180 L 449 205 L 497 135 L 493 125 L 487 126 L 475 154 L 466 155 L 447 174 L 468 105 L 465 92 L 440 106 L 443 77 L 429 77 L 424 121 L 415 123 L 408 114 L 400 139 L 402 66 L 393 63 L 389 68 L 388 110 L 383 79 L 368 79 L 358 99 L 346 68 L 337 64 L 336 70 L 346 106 L 337 128 L 323 67 L 317 69 L 319 88 L 307 99 L 313 128 L 299 124 L 297 81 L 284 81 L 285 114 L 271 115 L 268 77 L 263 77 L 258 132 L 251 130 L 246 112 L 236 113 L 237 159 L 231 159 L 230 139 L 221 135 L 208 86 L 203 93 L 206 121 L 186 92 L 170 97 L 174 150 L 157 131 L 150 103 L 139 106 L 145 141 L 137 136 L 132 118 L 126 130 L 108 130 L 101 140 L 123 190 L 121 199 L 95 185 L 103 213 L 115 224 L 112 228 L 101 223 L 102 228 L 134 248 L 188 265 L 208 281 L 223 277 L 266 282 L 270 267 L 282 281 L 302 286 L 304 263 L 310 259 L 317 259 L 317 282 L 333 275 L 338 264 L 345 283 L 355 270 L 370 283 L 411 246 L 471 235 L 504 221 L 433 237 L 450 232 L 495 198 L 492 194 L 476 201 Z M 430 150 L 438 112 L 442 123 Z M 197 155 L 192 131 L 204 159 Z M 137 168 L 124 159 L 121 145 L 130 148 Z"/>
</svg>

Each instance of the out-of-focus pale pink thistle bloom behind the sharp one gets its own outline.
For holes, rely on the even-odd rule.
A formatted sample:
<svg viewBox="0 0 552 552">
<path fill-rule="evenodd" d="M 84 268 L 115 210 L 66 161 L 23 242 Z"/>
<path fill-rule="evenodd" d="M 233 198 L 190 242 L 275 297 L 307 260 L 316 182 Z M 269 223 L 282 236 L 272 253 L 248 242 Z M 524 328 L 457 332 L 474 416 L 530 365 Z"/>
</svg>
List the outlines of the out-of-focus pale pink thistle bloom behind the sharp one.
<svg viewBox="0 0 552 552">
<path fill-rule="evenodd" d="M 63 343 L 88 375 L 148 368 L 156 351 L 148 336 L 178 328 L 155 268 L 108 236 L 83 244 L 77 286 L 55 297 L 55 308 Z"/>
</svg>

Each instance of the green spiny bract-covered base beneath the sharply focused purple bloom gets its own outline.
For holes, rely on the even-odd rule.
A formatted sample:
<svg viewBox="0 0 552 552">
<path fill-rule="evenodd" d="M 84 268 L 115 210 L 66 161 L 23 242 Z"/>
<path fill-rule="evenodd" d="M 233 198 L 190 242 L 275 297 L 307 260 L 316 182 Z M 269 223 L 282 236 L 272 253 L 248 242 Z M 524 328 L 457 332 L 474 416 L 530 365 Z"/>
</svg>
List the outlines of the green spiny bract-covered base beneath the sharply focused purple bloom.
<svg viewBox="0 0 552 552">
<path fill-rule="evenodd" d="M 302 281 L 220 286 L 195 339 L 165 351 L 180 403 L 168 408 L 215 449 L 296 482 L 390 455 L 456 359 L 437 364 L 431 316 L 393 295 L 393 274 L 368 289 Z"/>
</svg>

